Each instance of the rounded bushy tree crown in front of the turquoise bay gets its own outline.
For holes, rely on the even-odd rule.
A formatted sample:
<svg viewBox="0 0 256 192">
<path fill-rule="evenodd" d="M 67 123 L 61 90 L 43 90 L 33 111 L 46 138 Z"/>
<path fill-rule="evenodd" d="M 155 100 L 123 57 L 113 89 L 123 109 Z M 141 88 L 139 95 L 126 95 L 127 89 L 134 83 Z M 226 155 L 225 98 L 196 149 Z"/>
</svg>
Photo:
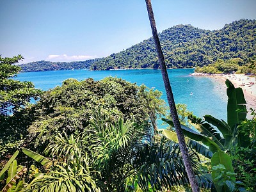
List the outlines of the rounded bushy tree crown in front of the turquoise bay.
<svg viewBox="0 0 256 192">
<path fill-rule="evenodd" d="M 45 148 L 58 132 L 68 135 L 83 132 L 97 108 L 112 120 L 122 116 L 124 120 L 132 119 L 148 127 L 149 122 L 156 124 L 157 115 L 165 113 L 160 96 L 157 90 L 116 77 L 100 81 L 67 79 L 62 86 L 45 92 L 31 108 L 36 118 L 29 126 L 28 137 L 35 142 L 35 147 Z"/>
</svg>

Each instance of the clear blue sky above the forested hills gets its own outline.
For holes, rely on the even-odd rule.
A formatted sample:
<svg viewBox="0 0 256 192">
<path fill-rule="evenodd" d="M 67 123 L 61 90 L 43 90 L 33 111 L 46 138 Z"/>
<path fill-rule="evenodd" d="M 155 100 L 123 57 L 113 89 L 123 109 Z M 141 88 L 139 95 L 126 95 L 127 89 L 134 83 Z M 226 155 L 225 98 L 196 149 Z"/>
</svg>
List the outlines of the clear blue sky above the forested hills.
<svg viewBox="0 0 256 192">
<path fill-rule="evenodd" d="M 158 32 L 256 19 L 256 0 L 152 0 Z M 144 0 L 0 0 L 0 54 L 23 63 L 108 56 L 152 36 Z"/>
</svg>

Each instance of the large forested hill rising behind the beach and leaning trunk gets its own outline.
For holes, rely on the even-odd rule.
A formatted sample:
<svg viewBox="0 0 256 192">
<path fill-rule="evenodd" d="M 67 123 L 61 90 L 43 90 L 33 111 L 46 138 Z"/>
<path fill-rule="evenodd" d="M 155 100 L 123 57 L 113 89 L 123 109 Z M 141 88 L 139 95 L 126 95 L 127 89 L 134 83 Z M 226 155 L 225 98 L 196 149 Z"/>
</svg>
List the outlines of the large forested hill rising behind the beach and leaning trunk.
<svg viewBox="0 0 256 192">
<path fill-rule="evenodd" d="M 159 39 L 168 68 L 203 66 L 217 59 L 246 61 L 256 54 L 256 20 L 241 19 L 214 31 L 178 25 L 159 33 Z M 149 38 L 95 61 L 91 68 L 158 68 L 154 46 L 154 40 Z"/>
</svg>

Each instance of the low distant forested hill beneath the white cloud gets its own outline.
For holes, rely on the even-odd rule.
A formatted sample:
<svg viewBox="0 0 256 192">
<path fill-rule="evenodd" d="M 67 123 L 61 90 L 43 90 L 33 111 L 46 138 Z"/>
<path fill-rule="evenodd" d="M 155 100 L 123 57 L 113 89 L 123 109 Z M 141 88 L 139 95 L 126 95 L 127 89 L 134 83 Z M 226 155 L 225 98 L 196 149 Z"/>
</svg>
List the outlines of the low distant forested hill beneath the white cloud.
<svg viewBox="0 0 256 192">
<path fill-rule="evenodd" d="M 86 60 L 86 61 L 73 61 L 73 62 L 51 62 L 51 61 L 35 61 L 19 65 L 22 71 L 46 71 L 46 70 L 68 70 L 79 68 L 90 68 L 92 63 L 99 59 Z"/>
</svg>

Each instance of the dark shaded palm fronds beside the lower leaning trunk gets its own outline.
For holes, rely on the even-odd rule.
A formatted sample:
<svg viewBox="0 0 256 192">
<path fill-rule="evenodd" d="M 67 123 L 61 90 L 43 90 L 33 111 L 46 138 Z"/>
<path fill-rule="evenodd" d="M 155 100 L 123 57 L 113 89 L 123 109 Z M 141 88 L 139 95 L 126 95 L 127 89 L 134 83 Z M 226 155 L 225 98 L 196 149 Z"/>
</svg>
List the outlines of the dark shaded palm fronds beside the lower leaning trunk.
<svg viewBox="0 0 256 192">
<path fill-rule="evenodd" d="M 194 168 L 198 168 L 198 156 L 190 150 L 189 156 Z M 162 186 L 180 186 L 188 184 L 188 176 L 184 167 L 179 145 L 168 142 L 145 145 L 136 159 L 140 164 L 139 183 L 143 191 L 150 186 L 161 189 Z"/>
</svg>

